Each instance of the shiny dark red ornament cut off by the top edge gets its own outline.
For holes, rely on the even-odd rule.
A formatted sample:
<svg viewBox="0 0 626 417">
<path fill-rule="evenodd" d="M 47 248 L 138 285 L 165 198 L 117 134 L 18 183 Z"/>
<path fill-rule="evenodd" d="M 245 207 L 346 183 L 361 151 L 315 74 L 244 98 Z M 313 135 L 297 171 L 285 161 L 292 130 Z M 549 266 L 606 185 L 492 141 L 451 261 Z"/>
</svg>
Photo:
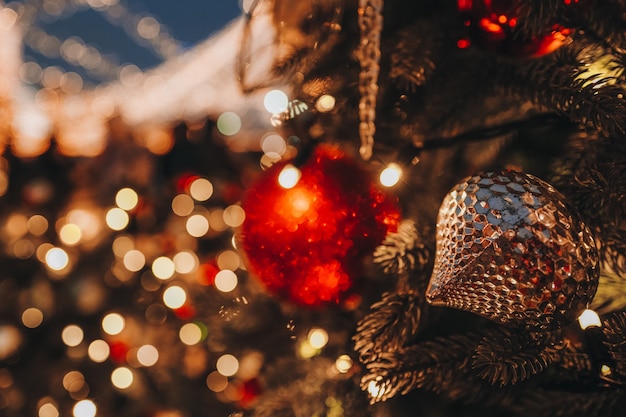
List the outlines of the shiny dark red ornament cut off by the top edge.
<svg viewBox="0 0 626 417">
<path fill-rule="evenodd" d="M 560 48 L 572 32 L 554 24 L 541 35 L 523 41 L 513 34 L 519 24 L 520 0 L 458 0 L 457 4 L 468 29 L 467 37 L 457 43 L 459 48 L 476 43 L 506 55 L 533 58 Z"/>
</svg>

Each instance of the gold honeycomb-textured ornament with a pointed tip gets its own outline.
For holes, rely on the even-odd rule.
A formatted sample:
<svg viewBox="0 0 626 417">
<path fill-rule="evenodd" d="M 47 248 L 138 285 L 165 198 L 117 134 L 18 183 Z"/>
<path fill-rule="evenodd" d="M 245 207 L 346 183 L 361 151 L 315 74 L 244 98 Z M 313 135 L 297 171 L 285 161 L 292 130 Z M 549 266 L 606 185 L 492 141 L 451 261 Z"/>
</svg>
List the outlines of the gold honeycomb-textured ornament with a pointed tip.
<svg viewBox="0 0 626 417">
<path fill-rule="evenodd" d="M 468 177 L 439 209 L 432 305 L 550 329 L 578 317 L 598 279 L 591 231 L 539 178 L 508 170 Z"/>
</svg>

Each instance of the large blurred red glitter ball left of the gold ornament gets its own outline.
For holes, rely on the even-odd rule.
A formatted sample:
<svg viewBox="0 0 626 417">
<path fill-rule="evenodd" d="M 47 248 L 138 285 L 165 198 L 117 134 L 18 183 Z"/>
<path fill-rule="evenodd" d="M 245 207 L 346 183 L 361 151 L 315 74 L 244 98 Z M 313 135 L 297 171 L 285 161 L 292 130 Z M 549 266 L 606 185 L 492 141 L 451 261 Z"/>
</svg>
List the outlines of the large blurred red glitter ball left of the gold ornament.
<svg viewBox="0 0 626 417">
<path fill-rule="evenodd" d="M 297 304 L 337 303 L 364 257 L 397 229 L 396 199 L 336 146 L 318 146 L 292 188 L 279 184 L 286 167 L 293 168 L 268 169 L 243 201 L 248 268 L 270 292 Z"/>
</svg>

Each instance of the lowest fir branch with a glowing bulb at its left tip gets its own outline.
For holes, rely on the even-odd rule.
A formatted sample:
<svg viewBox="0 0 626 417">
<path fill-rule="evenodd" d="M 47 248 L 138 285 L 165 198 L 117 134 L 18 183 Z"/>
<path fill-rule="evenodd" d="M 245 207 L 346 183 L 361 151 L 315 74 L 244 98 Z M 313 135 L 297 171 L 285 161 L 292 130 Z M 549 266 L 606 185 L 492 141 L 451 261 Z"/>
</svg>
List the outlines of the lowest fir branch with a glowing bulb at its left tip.
<svg viewBox="0 0 626 417">
<path fill-rule="evenodd" d="M 481 337 L 452 335 L 381 352 L 365 364 L 368 373 L 361 378 L 361 388 L 369 392 L 372 404 L 418 388 L 442 392 L 467 373 L 471 353 Z"/>
</svg>

